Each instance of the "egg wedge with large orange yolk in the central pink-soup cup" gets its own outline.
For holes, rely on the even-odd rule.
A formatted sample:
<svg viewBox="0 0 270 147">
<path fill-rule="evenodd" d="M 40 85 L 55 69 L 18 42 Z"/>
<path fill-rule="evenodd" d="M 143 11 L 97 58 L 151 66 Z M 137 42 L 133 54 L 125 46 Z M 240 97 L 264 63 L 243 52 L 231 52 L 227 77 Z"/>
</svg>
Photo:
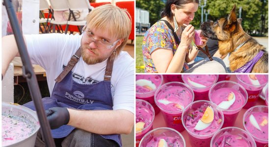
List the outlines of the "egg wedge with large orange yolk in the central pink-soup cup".
<svg viewBox="0 0 270 147">
<path fill-rule="evenodd" d="M 208 106 L 204 111 L 202 118 L 195 126 L 195 130 L 201 131 L 207 128 L 214 120 L 214 110 L 211 106 Z"/>
</svg>

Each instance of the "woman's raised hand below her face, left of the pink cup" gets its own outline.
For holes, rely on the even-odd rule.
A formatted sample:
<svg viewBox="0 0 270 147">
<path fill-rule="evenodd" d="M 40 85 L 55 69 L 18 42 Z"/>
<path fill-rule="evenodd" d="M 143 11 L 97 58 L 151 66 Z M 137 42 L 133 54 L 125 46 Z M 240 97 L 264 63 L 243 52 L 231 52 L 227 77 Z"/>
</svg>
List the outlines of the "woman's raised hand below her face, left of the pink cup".
<svg viewBox="0 0 270 147">
<path fill-rule="evenodd" d="M 194 36 L 195 36 L 194 26 L 188 25 L 182 32 L 180 45 L 189 46 Z"/>
</svg>

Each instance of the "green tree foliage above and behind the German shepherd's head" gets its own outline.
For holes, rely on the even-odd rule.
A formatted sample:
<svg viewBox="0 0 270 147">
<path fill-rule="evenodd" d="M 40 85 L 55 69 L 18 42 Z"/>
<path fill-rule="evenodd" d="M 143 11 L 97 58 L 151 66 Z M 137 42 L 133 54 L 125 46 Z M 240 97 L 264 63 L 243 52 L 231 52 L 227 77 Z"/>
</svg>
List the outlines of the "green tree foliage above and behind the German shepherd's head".
<svg viewBox="0 0 270 147">
<path fill-rule="evenodd" d="M 262 0 L 208 0 L 205 7 L 206 9 L 210 9 L 208 18 L 216 21 L 218 18 L 227 17 L 234 4 L 236 4 L 238 17 L 239 8 L 242 6 L 242 26 L 247 33 L 251 33 L 253 30 L 265 30 L 262 28 L 265 25 L 262 25 L 261 20 L 266 17 L 266 15 L 262 16 L 263 12 L 268 14 L 268 0 L 265 1 L 264 5 Z"/>
</svg>

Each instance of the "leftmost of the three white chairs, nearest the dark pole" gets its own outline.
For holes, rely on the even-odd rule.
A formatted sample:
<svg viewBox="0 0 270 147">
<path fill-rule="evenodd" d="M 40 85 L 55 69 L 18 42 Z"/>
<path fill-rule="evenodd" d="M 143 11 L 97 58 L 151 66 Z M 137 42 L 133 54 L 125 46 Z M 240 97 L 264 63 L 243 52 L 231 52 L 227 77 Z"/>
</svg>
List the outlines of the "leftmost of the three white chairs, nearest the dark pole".
<svg viewBox="0 0 270 147">
<path fill-rule="evenodd" d="M 48 18 L 45 18 L 44 15 L 44 11 L 48 10 Z M 47 0 L 40 0 L 39 1 L 39 13 L 40 13 L 40 17 L 39 17 L 39 29 L 42 33 L 46 33 L 47 32 L 47 26 L 48 23 L 51 22 L 51 18 L 50 15 L 52 15 L 52 10 L 47 2 Z M 43 25 L 44 31 L 41 28 L 41 25 Z"/>
</svg>

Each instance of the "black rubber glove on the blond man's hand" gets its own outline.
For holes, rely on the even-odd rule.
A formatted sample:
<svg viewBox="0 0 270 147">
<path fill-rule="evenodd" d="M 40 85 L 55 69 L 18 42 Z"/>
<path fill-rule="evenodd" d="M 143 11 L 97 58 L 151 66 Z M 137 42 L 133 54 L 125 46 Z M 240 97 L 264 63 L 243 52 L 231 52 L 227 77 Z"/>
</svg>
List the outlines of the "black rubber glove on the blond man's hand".
<svg viewBox="0 0 270 147">
<path fill-rule="evenodd" d="M 67 108 L 53 107 L 45 111 L 51 129 L 56 129 L 69 122 Z"/>
</svg>

